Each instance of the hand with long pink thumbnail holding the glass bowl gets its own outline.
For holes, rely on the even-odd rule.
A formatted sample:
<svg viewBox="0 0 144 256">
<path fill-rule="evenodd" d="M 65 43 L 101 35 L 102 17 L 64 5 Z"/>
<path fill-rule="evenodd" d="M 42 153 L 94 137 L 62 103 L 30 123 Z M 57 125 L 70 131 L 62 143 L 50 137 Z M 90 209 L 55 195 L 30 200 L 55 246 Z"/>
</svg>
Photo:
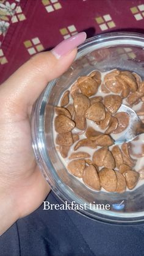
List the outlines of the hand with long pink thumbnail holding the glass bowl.
<svg viewBox="0 0 144 256">
<path fill-rule="evenodd" d="M 35 55 L 0 87 L 0 235 L 36 210 L 50 191 L 35 162 L 29 117 L 48 81 L 67 70 L 84 40 L 80 33 Z"/>
</svg>

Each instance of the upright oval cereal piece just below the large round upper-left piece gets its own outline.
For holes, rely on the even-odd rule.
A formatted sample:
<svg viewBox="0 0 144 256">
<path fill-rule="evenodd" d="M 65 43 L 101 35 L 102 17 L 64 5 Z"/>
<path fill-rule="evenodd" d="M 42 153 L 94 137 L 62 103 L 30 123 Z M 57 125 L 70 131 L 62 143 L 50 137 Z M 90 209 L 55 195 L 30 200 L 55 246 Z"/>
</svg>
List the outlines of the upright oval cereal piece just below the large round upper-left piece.
<svg viewBox="0 0 144 256">
<path fill-rule="evenodd" d="M 83 117 L 85 114 L 85 111 L 90 106 L 90 100 L 82 93 L 79 93 L 76 95 L 76 97 L 74 97 L 73 105 L 74 105 L 74 111 L 76 112 L 76 115 Z"/>
</svg>

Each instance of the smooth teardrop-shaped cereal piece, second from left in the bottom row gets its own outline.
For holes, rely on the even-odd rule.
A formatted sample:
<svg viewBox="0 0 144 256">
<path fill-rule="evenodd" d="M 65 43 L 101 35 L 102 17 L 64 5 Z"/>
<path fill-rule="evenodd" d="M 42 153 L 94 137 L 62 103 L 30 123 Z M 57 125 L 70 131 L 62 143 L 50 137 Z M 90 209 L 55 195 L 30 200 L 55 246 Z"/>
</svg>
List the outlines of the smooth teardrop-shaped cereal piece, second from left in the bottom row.
<svg viewBox="0 0 144 256">
<path fill-rule="evenodd" d="M 82 180 L 90 188 L 96 189 L 98 191 L 101 189 L 98 172 L 93 165 L 85 167 Z"/>
</svg>

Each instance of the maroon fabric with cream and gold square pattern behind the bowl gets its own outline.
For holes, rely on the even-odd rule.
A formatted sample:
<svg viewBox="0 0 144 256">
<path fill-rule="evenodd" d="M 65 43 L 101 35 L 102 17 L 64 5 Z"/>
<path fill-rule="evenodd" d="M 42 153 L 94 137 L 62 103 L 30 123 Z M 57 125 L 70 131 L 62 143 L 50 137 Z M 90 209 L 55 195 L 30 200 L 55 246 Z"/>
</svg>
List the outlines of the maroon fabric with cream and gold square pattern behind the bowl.
<svg viewBox="0 0 144 256">
<path fill-rule="evenodd" d="M 144 0 L 0 0 L 0 82 L 77 32 L 144 32 Z"/>
</svg>

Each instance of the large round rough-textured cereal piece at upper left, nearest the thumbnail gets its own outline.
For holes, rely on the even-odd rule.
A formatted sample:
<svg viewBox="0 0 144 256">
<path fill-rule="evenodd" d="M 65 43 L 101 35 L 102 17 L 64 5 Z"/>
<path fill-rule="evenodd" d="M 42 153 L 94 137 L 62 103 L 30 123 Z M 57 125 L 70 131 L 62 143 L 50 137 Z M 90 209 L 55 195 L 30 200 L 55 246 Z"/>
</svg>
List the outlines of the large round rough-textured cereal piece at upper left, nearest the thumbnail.
<svg viewBox="0 0 144 256">
<path fill-rule="evenodd" d="M 87 97 L 94 95 L 98 91 L 99 84 L 91 77 L 81 76 L 77 79 L 77 83 L 81 92 Z"/>
</svg>

